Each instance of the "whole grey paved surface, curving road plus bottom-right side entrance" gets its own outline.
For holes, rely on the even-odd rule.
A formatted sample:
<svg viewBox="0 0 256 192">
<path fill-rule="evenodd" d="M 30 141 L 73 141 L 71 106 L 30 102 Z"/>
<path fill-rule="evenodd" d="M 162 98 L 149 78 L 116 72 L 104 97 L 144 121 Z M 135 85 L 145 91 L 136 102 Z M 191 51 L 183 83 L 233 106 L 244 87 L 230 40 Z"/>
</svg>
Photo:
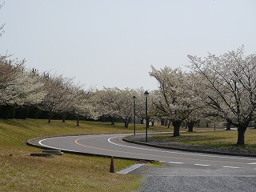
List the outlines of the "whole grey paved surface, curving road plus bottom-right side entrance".
<svg viewBox="0 0 256 192">
<path fill-rule="evenodd" d="M 123 142 L 127 134 L 78 135 L 45 138 L 41 146 L 85 154 L 163 162 L 141 166 L 130 174 L 144 174 L 139 191 L 256 191 L 256 158 L 163 150 Z"/>
</svg>

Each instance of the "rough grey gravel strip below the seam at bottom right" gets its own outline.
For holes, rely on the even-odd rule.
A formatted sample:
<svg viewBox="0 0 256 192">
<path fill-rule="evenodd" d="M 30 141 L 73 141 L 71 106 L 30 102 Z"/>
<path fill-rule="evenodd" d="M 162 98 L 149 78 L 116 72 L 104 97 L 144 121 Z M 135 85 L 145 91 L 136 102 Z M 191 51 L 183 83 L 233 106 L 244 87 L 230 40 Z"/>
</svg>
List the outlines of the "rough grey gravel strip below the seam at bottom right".
<svg viewBox="0 0 256 192">
<path fill-rule="evenodd" d="M 146 176 L 136 192 L 256 191 L 254 176 Z"/>
</svg>

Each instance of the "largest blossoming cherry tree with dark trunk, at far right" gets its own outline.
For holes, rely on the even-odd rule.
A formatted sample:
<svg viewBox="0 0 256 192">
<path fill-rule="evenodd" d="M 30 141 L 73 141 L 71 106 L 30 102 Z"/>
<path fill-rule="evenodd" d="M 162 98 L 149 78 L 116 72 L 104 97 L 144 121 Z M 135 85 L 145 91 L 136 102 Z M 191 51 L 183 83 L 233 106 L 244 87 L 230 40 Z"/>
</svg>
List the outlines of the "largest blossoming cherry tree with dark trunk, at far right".
<svg viewBox="0 0 256 192">
<path fill-rule="evenodd" d="M 198 73 L 198 95 L 210 107 L 210 114 L 238 127 L 238 145 L 245 144 L 245 132 L 256 109 L 256 54 L 244 56 L 243 46 L 220 56 L 188 55 L 190 68 Z"/>
</svg>

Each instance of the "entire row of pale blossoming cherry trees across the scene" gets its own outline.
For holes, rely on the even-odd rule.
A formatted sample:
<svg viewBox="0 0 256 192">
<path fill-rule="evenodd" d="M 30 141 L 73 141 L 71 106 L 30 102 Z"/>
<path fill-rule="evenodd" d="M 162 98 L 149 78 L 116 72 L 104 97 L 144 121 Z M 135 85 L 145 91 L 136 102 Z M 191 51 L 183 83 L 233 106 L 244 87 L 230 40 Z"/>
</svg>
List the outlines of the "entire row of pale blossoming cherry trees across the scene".
<svg viewBox="0 0 256 192">
<path fill-rule="evenodd" d="M 26 69 L 25 60 L 0 56 L 0 118 L 107 119 L 122 121 L 128 127 L 135 114 L 146 119 L 143 88 L 104 87 L 87 89 L 63 75 Z M 238 128 L 238 145 L 244 145 L 245 132 L 255 120 L 256 55 L 244 56 L 244 48 L 206 58 L 188 55 L 189 72 L 168 66 L 151 66 L 150 76 L 158 90 L 150 91 L 148 121 L 170 122 L 174 136 L 182 123 L 189 131 L 200 121 L 225 121 Z M 136 97 L 134 101 L 133 97 Z M 169 123 L 169 126 L 170 126 Z"/>
</svg>

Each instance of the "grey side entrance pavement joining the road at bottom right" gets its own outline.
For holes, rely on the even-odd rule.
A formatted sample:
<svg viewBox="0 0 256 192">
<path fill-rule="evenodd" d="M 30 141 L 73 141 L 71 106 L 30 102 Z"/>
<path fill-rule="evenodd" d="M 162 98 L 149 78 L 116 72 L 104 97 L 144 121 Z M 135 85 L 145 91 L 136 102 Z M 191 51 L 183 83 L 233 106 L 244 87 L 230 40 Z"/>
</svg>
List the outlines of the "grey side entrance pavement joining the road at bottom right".
<svg viewBox="0 0 256 192">
<path fill-rule="evenodd" d="M 195 172 L 194 172 L 195 171 Z M 136 192 L 242 192 L 256 191 L 254 170 L 222 170 L 218 167 L 198 168 L 190 165 L 160 167 L 141 166 L 131 174 L 142 174 L 142 187 Z"/>
</svg>

